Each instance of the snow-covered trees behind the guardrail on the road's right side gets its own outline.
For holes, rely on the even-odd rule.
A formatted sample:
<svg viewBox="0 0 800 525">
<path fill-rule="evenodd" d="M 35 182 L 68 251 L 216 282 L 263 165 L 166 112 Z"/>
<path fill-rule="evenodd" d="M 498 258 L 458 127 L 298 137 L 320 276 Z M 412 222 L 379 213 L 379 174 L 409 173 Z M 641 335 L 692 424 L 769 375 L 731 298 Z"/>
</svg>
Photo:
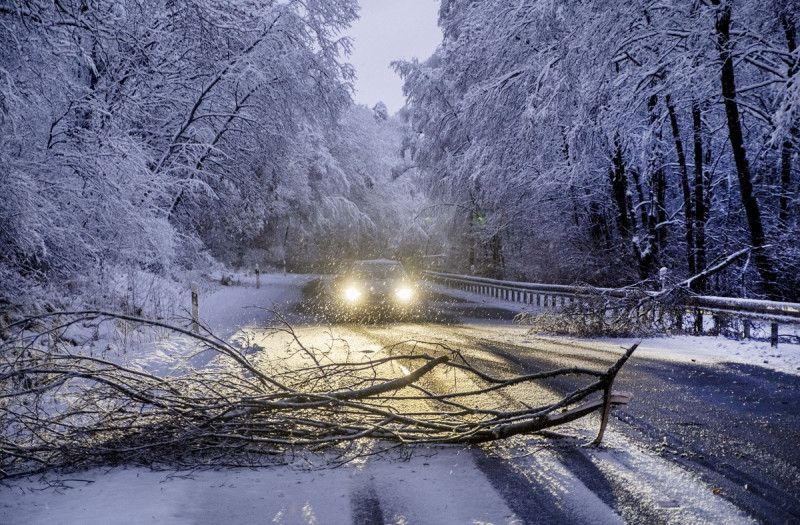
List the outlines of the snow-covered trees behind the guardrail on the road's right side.
<svg viewBox="0 0 800 525">
<path fill-rule="evenodd" d="M 621 284 L 749 245 L 696 289 L 796 297 L 796 12 L 443 1 L 442 46 L 396 69 L 428 191 L 467 231 L 454 266 Z"/>
</svg>

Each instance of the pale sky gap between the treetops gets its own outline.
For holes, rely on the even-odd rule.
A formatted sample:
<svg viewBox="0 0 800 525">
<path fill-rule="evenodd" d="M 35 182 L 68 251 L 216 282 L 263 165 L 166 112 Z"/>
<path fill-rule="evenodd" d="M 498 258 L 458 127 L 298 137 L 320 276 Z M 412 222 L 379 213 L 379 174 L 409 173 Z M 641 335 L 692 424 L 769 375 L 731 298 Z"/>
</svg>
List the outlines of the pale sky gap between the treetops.
<svg viewBox="0 0 800 525">
<path fill-rule="evenodd" d="M 403 82 L 389 67 L 393 60 L 424 60 L 436 50 L 440 0 L 360 0 L 361 18 L 348 32 L 349 62 L 356 68 L 355 99 L 369 107 L 382 101 L 395 113 L 403 104 Z"/>
</svg>

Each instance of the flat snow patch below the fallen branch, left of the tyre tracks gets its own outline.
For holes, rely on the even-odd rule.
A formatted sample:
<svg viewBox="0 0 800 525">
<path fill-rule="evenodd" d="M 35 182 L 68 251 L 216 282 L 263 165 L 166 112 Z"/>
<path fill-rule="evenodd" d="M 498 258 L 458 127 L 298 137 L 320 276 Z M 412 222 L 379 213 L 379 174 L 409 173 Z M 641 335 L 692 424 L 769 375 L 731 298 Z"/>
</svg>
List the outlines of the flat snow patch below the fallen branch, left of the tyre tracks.
<svg viewBox="0 0 800 525">
<path fill-rule="evenodd" d="M 378 495 L 385 523 L 518 523 L 468 453 L 428 452 L 318 470 L 96 469 L 61 480 L 67 489 L 14 482 L 0 487 L 0 523 L 348 525 L 371 523 Z"/>
</svg>

